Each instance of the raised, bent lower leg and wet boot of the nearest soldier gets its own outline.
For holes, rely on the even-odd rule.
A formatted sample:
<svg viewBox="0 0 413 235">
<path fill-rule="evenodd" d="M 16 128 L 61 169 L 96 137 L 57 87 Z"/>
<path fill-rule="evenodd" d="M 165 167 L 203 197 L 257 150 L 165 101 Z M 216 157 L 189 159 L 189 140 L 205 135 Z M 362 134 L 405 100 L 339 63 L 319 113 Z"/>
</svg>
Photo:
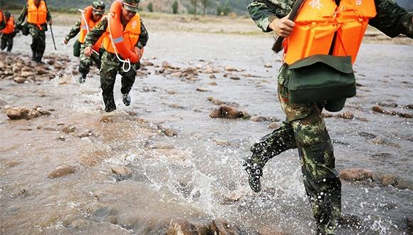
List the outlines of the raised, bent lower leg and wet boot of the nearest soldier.
<svg viewBox="0 0 413 235">
<path fill-rule="evenodd" d="M 281 127 L 262 137 L 251 146 L 252 155 L 244 160 L 243 166 L 248 174 L 249 186 L 253 192 L 261 191 L 260 178 L 266 162 L 281 152 L 296 147 L 293 127 L 288 122 L 283 122 Z"/>
</svg>

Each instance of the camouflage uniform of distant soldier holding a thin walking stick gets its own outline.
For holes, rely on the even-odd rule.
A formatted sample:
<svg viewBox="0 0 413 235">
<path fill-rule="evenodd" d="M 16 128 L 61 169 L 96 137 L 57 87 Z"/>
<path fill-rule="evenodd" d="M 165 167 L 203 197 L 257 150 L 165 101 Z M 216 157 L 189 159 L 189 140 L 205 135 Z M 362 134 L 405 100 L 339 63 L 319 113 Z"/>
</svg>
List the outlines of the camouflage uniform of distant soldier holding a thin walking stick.
<svg viewBox="0 0 413 235">
<path fill-rule="evenodd" d="M 27 16 L 27 9 L 28 5 L 24 6 L 23 10 L 21 11 L 19 15 L 19 19 L 17 20 L 16 23 L 16 29 L 21 29 L 21 24 L 23 23 L 24 19 L 26 19 Z M 50 11 L 47 11 L 47 16 L 46 16 L 47 21 L 51 21 L 51 14 Z M 43 53 L 44 50 L 46 49 L 46 34 L 45 32 L 47 31 L 47 23 L 41 24 L 40 28 L 36 26 L 34 23 L 26 23 L 26 26 L 28 26 L 28 32 L 30 33 L 32 37 L 32 42 L 31 42 L 31 52 L 33 53 L 33 56 L 31 57 L 32 61 L 36 62 L 41 62 L 41 58 L 43 58 Z"/>
</svg>

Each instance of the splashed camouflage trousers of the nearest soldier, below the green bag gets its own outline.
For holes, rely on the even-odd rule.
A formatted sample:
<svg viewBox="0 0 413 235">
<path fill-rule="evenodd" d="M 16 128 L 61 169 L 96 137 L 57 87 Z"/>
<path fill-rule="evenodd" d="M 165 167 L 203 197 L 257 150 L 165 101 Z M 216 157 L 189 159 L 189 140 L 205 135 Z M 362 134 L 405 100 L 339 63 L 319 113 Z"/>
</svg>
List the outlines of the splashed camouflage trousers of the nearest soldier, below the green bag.
<svg viewBox="0 0 413 235">
<path fill-rule="evenodd" d="M 305 192 L 308 195 L 322 234 L 333 234 L 341 216 L 341 182 L 335 170 L 333 145 L 321 116 L 323 106 L 317 103 L 289 103 L 286 66 L 278 75 L 278 100 L 286 122 L 280 128 L 251 147 L 249 158 L 256 169 L 262 169 L 266 162 L 279 153 L 298 148 Z M 258 173 L 262 174 L 261 170 Z"/>
</svg>

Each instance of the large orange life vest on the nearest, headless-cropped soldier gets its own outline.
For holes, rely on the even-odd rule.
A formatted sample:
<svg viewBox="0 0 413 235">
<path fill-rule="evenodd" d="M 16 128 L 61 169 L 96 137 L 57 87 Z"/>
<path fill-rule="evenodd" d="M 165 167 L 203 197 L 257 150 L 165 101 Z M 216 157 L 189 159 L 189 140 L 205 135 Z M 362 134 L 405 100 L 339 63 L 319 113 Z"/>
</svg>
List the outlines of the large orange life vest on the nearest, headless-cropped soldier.
<svg viewBox="0 0 413 235">
<path fill-rule="evenodd" d="M 293 33 L 283 42 L 284 61 L 290 65 L 308 56 L 328 55 L 333 46 L 333 56 L 351 56 L 354 63 L 367 23 L 375 16 L 374 0 L 341 0 L 340 6 L 334 0 L 306 0 Z"/>
</svg>

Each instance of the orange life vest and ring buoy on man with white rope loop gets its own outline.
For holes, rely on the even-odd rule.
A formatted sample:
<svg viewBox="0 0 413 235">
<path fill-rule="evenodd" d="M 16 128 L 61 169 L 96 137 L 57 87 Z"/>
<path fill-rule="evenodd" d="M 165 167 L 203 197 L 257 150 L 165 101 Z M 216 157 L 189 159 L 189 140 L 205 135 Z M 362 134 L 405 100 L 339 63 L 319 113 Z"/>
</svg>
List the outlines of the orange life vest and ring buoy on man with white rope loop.
<svg viewBox="0 0 413 235">
<path fill-rule="evenodd" d="M 103 38 L 103 48 L 110 53 L 119 53 L 124 59 L 130 59 L 131 63 L 137 63 L 140 60 L 135 53 L 132 52 L 132 48 L 139 41 L 140 36 L 140 16 L 136 14 L 129 22 L 127 22 L 126 27 L 123 28 L 122 23 L 120 23 L 120 14 L 122 3 L 120 1 L 113 2 L 110 6 L 110 14 L 108 16 L 108 28 L 106 28 L 106 33 Z M 112 41 L 110 40 L 110 32 L 112 33 L 113 43 L 116 46 L 112 46 Z"/>
</svg>

